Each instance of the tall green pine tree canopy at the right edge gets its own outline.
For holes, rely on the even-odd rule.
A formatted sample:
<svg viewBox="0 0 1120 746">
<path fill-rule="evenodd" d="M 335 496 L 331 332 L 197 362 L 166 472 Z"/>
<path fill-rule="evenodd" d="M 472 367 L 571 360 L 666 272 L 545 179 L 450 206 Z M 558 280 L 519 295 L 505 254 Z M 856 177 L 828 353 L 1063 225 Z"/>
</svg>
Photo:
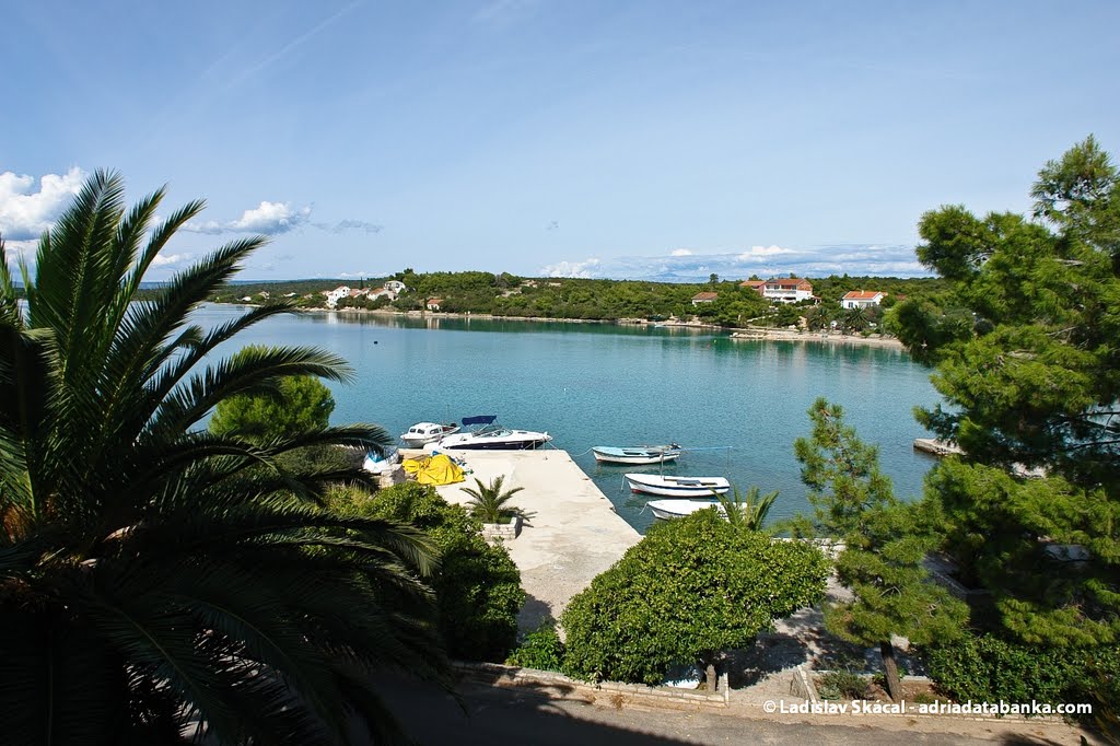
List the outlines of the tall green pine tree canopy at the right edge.
<svg viewBox="0 0 1120 746">
<path fill-rule="evenodd" d="M 936 365 L 920 411 L 965 451 L 930 477 L 945 550 L 1014 638 L 1120 640 L 1120 174 L 1090 137 L 1047 162 L 1032 216 L 926 213 L 918 259 L 951 283 L 895 309 Z"/>
</svg>

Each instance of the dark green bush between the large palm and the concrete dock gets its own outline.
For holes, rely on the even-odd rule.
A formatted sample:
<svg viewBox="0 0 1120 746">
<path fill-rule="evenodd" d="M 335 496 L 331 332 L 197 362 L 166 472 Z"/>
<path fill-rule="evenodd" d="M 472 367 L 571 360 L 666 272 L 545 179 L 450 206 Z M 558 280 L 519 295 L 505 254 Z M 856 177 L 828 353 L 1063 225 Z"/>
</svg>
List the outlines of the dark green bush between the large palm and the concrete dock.
<svg viewBox="0 0 1120 746">
<path fill-rule="evenodd" d="M 339 489 L 330 506 L 346 514 L 411 523 L 430 535 L 441 552 L 431 586 L 448 653 L 469 661 L 505 660 L 517 640 L 525 591 L 510 553 L 483 539 L 477 519 L 448 504 L 431 486 L 414 482 L 373 496 Z"/>
</svg>

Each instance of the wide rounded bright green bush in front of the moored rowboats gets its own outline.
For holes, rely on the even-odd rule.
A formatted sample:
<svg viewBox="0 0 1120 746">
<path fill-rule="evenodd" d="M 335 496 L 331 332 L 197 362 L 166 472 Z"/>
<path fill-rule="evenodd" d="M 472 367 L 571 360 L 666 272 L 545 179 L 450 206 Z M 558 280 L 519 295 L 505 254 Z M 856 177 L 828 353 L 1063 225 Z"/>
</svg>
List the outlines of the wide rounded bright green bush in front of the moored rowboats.
<svg viewBox="0 0 1120 746">
<path fill-rule="evenodd" d="M 655 525 L 568 605 L 564 673 L 656 684 L 674 664 L 715 663 L 819 602 L 828 572 L 815 547 L 739 531 L 716 511 Z"/>
</svg>

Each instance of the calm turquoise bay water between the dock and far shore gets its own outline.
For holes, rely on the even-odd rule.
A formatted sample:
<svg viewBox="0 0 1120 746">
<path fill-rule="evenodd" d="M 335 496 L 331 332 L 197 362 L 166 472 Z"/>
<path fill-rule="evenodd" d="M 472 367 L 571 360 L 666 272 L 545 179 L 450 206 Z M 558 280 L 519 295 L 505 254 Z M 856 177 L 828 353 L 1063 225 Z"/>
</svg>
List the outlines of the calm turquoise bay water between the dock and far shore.
<svg viewBox="0 0 1120 746">
<path fill-rule="evenodd" d="M 205 306 L 198 320 L 239 313 Z M 912 411 L 939 395 L 928 370 L 895 349 L 737 342 L 679 328 L 343 314 L 269 319 L 239 339 L 319 345 L 348 360 L 356 380 L 332 385 L 336 423 L 376 422 L 398 436 L 417 421 L 497 414 L 508 427 L 547 430 L 638 530 L 653 517 L 622 488 L 633 467 L 597 466 L 591 446 L 700 449 L 666 472 L 778 489 L 772 519 L 808 506 L 793 441 L 809 433 L 805 411 L 816 397 L 843 405 L 848 422 L 879 446 L 899 496 L 921 494 L 933 463 L 912 448 L 926 435 Z"/>
</svg>

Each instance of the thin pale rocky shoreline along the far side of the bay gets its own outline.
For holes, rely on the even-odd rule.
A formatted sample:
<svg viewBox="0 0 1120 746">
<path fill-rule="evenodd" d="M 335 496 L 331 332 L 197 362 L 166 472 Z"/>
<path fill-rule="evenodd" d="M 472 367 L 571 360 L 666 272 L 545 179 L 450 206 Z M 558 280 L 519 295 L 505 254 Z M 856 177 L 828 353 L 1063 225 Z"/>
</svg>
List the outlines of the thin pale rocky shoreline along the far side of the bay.
<svg viewBox="0 0 1120 746">
<path fill-rule="evenodd" d="M 256 306 L 248 302 L 214 302 L 216 306 Z M 906 347 L 895 337 L 871 336 L 847 334 L 821 334 L 816 332 L 791 332 L 788 329 L 773 329 L 766 327 L 726 327 L 718 324 L 704 324 L 702 321 L 650 321 L 637 318 L 619 319 L 590 319 L 590 318 L 557 318 L 552 316 L 495 316 L 494 314 L 451 314 L 448 311 L 429 310 L 385 310 L 383 308 L 296 308 L 299 314 L 343 314 L 363 316 L 373 314 L 376 316 L 403 316 L 405 318 L 448 318 L 470 320 L 473 318 L 484 321 L 538 321 L 544 324 L 600 324 L 604 326 L 664 326 L 678 329 L 696 329 L 722 333 L 729 339 L 736 342 L 813 342 L 818 344 L 848 344 L 864 345 L 868 347 L 885 347 L 890 349 L 905 351 Z"/>
</svg>

